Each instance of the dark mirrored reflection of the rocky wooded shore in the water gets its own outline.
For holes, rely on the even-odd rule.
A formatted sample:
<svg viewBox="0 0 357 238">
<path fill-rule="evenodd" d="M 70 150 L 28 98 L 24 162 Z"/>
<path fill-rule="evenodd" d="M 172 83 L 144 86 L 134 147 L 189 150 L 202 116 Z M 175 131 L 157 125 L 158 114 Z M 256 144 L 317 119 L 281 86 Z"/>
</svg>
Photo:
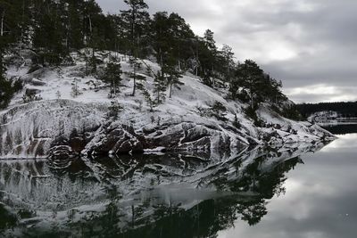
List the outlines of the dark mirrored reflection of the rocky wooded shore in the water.
<svg viewBox="0 0 357 238">
<path fill-rule="evenodd" d="M 211 236 L 238 218 L 258 223 L 266 200 L 285 192 L 286 171 L 302 162 L 297 156 L 319 146 L 255 148 L 220 160 L 153 154 L 77 158 L 61 167 L 4 161 L 0 201 L 18 213 L 16 228 L 28 236 Z"/>
</svg>

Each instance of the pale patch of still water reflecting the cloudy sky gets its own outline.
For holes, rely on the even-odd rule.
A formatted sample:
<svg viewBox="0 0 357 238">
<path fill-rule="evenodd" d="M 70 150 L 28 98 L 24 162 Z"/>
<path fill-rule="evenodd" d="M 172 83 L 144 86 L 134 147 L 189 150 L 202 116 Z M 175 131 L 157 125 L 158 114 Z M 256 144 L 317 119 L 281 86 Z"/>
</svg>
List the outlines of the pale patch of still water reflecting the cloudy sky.
<svg viewBox="0 0 357 238">
<path fill-rule="evenodd" d="M 268 201 L 259 224 L 237 220 L 218 237 L 356 237 L 357 134 L 338 136 L 301 157 L 303 164 L 286 175 L 286 193 Z"/>
</svg>

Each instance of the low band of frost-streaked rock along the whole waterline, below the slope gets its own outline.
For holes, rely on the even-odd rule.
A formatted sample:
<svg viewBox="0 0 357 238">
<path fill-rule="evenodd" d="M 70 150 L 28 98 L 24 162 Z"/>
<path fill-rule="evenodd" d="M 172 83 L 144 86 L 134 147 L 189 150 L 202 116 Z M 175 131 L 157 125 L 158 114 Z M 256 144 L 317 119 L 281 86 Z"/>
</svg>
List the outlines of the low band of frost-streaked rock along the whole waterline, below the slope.
<svg viewBox="0 0 357 238">
<path fill-rule="evenodd" d="M 0 114 L 0 157 L 64 159 L 143 153 L 156 148 L 167 152 L 237 152 L 256 144 L 279 146 L 332 138 L 318 126 L 286 121 L 277 115 L 274 124 L 270 121 L 273 126 L 252 130 L 210 120 L 130 125 L 123 123 L 125 119 L 108 119 L 107 111 L 103 104 L 69 100 L 12 107 Z"/>
</svg>

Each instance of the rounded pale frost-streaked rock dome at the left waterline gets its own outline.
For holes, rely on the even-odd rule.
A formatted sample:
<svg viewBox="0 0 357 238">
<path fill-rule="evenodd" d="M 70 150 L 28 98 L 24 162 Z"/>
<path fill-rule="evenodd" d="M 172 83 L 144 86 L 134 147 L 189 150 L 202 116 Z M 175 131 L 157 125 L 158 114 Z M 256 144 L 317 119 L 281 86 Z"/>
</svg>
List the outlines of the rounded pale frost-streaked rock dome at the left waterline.
<svg viewBox="0 0 357 238">
<path fill-rule="evenodd" d="M 46 157 L 56 137 L 69 137 L 74 129 L 99 127 L 104 111 L 94 104 L 68 100 L 27 103 L 1 111 L 0 157 Z"/>
</svg>

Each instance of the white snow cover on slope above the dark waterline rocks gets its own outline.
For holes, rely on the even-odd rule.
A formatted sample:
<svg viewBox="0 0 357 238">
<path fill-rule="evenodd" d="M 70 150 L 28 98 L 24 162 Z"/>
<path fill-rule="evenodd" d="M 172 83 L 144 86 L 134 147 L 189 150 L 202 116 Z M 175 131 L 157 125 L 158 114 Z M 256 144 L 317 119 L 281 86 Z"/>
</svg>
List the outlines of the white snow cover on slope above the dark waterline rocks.
<svg viewBox="0 0 357 238">
<path fill-rule="evenodd" d="M 166 94 L 166 102 L 150 111 L 145 102 L 144 95 L 137 90 L 135 96 L 131 96 L 133 80 L 128 78 L 132 71 L 129 57 L 111 52 L 96 53 L 97 58 L 103 62 L 110 62 L 112 58 L 120 60 L 122 74 L 122 86 L 120 93 L 114 99 L 109 99 L 109 88 L 93 76 L 86 76 L 86 62 L 80 53 L 72 53 L 74 64 L 71 66 L 50 67 L 29 72 L 29 65 L 12 65 L 7 71 L 9 77 L 21 78 L 25 82 L 24 89 L 16 94 L 8 109 L 0 111 L 0 157 L 23 158 L 23 157 L 46 157 L 34 153 L 34 147 L 41 144 L 44 150 L 48 150 L 51 141 L 56 135 L 70 135 L 75 128 L 80 130 L 84 127 L 97 127 L 105 122 L 106 112 L 112 101 L 120 103 L 123 110 L 120 112 L 118 122 L 133 127 L 137 132 L 144 128 L 154 128 L 164 124 L 194 123 L 205 127 L 218 127 L 230 141 L 249 144 L 248 137 L 263 143 L 259 138 L 262 133 L 275 130 L 287 141 L 314 141 L 321 136 L 320 128 L 312 128 L 311 124 L 297 123 L 292 120 L 283 119 L 267 108 L 260 111 L 261 117 L 269 123 L 281 125 L 280 129 L 257 128 L 253 126 L 252 119 L 248 119 L 243 113 L 246 105 L 235 103 L 225 99 L 227 89 L 205 86 L 200 78 L 189 73 L 185 74 L 181 81 L 184 83 L 180 90 L 173 89 L 172 98 L 169 98 L 169 89 Z M 141 80 L 145 88 L 153 94 L 154 78 L 152 73 L 146 69 L 149 66 L 152 71 L 160 70 L 160 67 L 149 61 L 142 61 L 142 68 L 138 72 L 145 76 Z M 103 65 L 99 66 L 103 67 Z M 77 85 L 80 94 L 73 97 L 72 87 Z M 23 95 L 26 91 L 37 92 L 40 101 L 24 103 Z M 223 122 L 215 117 L 203 116 L 202 110 L 209 110 L 213 103 L 220 102 L 226 108 Z M 233 132 L 227 129 L 237 115 L 241 128 Z M 297 131 L 292 135 L 291 128 Z M 170 128 L 169 128 L 170 130 Z M 220 140 L 217 135 L 212 140 Z M 259 141 L 261 139 L 261 141 Z M 213 142 L 214 144 L 214 142 Z"/>
</svg>

